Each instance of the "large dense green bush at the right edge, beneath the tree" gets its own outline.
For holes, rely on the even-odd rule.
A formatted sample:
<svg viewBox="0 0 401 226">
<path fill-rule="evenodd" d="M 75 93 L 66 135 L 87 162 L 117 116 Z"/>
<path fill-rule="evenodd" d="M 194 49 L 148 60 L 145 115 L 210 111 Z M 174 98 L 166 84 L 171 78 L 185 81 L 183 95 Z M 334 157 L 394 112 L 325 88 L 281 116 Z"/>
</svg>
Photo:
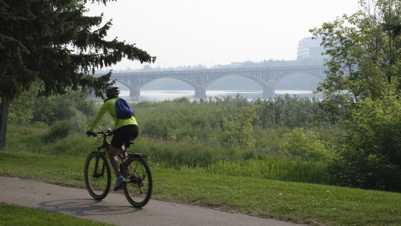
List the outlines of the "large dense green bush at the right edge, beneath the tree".
<svg viewBox="0 0 401 226">
<path fill-rule="evenodd" d="M 366 98 L 352 110 L 342 137 L 334 183 L 401 191 L 401 101 Z"/>
</svg>

